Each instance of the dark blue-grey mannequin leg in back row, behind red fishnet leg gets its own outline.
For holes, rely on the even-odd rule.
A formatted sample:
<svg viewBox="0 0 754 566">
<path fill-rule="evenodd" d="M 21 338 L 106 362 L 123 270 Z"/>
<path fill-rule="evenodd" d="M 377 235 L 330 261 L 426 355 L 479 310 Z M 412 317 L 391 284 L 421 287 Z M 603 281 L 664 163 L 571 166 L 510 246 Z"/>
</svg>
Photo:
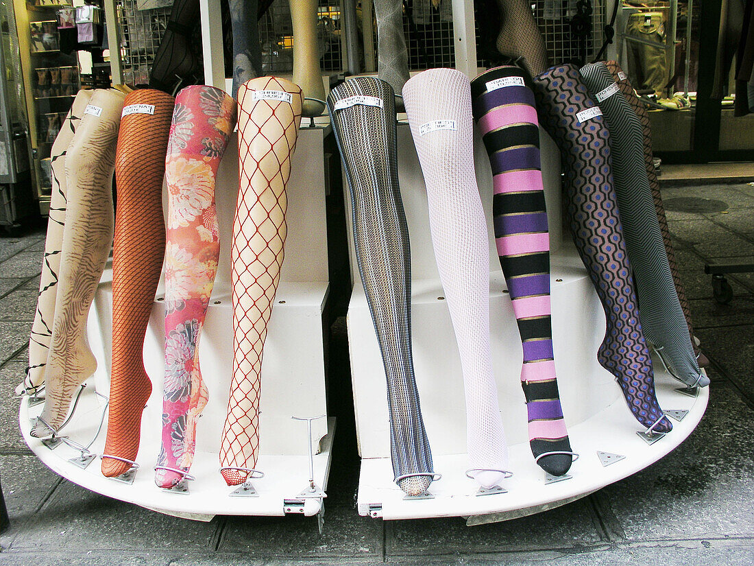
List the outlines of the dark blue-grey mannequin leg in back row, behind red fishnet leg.
<svg viewBox="0 0 754 566">
<path fill-rule="evenodd" d="M 259 44 L 258 0 L 229 0 L 233 29 L 233 96 L 251 78 L 262 75 L 262 45 Z"/>
</svg>

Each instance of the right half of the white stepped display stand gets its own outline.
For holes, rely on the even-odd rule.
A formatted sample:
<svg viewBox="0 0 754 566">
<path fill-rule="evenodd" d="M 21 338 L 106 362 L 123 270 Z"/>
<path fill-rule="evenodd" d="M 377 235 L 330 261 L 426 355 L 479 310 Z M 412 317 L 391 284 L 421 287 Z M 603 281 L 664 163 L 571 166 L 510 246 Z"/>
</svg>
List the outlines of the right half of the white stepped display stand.
<svg viewBox="0 0 754 566">
<path fill-rule="evenodd" d="M 409 226 L 412 261 L 412 346 L 421 413 L 434 460 L 442 478 L 431 484 L 431 499 L 404 499 L 393 482 L 385 372 L 372 318 L 360 279 L 355 276 L 348 307 L 348 340 L 354 386 L 357 438 L 362 457 L 358 509 L 361 515 L 388 519 L 495 515 L 497 520 L 549 509 L 584 497 L 648 466 L 673 450 L 697 425 L 709 395 L 701 389 L 691 398 L 676 391 L 659 358 L 654 360 L 657 397 L 665 411 L 688 411 L 673 432 L 647 444 L 614 377 L 596 361 L 605 333 L 605 316 L 570 236 L 562 235 L 562 202 L 558 150 L 544 131 L 541 161 L 550 221 L 553 343 L 563 414 L 572 448 L 580 455 L 572 478 L 546 483 L 529 448 L 526 405 L 520 384 L 521 341 L 510 297 L 495 250 L 492 230 L 492 173 L 479 137 L 474 156 L 477 180 L 489 230 L 490 318 L 492 358 L 501 413 L 510 445 L 513 477 L 501 487 L 507 493 L 477 496 L 478 484 L 466 477 L 466 414 L 458 346 L 434 259 L 427 195 L 408 125 L 398 125 L 400 190 Z M 350 195 L 345 186 L 348 206 Z M 349 234 L 351 217 L 347 214 Z M 351 237 L 351 272 L 358 273 Z M 602 466 L 597 451 L 625 459 Z"/>
</svg>

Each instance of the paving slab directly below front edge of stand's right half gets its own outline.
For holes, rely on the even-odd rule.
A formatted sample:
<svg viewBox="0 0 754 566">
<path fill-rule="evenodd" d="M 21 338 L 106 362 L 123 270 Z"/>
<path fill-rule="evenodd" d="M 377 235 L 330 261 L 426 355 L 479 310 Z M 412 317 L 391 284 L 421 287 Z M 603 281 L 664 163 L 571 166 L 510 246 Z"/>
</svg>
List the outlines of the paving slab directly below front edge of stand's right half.
<svg viewBox="0 0 754 566">
<path fill-rule="evenodd" d="M 588 500 L 501 523 L 467 527 L 463 518 L 386 521 L 388 557 L 514 549 L 572 548 L 602 537 Z"/>
</svg>

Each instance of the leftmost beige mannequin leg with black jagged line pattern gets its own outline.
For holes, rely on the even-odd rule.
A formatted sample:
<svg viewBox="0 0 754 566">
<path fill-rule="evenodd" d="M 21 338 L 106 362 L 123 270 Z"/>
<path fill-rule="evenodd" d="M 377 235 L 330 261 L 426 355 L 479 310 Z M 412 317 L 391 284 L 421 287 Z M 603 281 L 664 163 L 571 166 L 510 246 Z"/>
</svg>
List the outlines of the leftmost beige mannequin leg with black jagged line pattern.
<svg viewBox="0 0 754 566">
<path fill-rule="evenodd" d="M 78 128 L 78 122 L 81 122 L 81 116 L 84 115 L 84 109 L 89 103 L 92 92 L 78 91 L 50 152 L 52 163 L 50 220 L 47 238 L 44 241 L 44 261 L 39 280 L 37 311 L 29 340 L 29 371 L 25 382 L 26 390 L 29 392 L 35 391 L 44 383 L 44 369 L 50 352 L 57 280 L 60 272 L 60 248 L 63 245 L 63 226 L 66 223 L 66 194 L 68 192 L 66 190 L 66 151 Z"/>
</svg>

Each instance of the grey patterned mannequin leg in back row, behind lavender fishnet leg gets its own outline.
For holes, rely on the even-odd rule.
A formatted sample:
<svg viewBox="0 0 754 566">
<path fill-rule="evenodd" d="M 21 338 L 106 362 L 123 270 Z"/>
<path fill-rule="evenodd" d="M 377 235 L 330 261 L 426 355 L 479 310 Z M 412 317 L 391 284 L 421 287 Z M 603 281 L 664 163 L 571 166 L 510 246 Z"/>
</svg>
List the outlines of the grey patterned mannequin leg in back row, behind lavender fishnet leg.
<svg viewBox="0 0 754 566">
<path fill-rule="evenodd" d="M 396 95 L 409 80 L 409 52 L 403 35 L 403 2 L 374 0 L 377 20 L 377 70 L 379 78 L 388 82 Z M 396 99 L 398 109 L 403 106 Z"/>
</svg>

